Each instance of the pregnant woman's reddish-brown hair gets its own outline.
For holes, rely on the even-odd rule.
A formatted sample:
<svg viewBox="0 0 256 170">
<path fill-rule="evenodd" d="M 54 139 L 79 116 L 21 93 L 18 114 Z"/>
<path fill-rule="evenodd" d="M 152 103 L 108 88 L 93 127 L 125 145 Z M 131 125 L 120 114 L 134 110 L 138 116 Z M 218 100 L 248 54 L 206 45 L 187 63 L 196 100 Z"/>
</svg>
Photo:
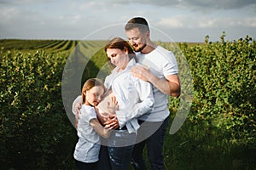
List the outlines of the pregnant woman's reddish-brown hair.
<svg viewBox="0 0 256 170">
<path fill-rule="evenodd" d="M 114 37 L 113 39 L 111 39 L 107 45 L 105 46 L 105 52 L 107 52 L 107 49 L 109 48 L 118 48 L 120 50 L 127 50 L 130 59 L 134 58 L 137 61 L 136 55 L 133 52 L 131 46 L 129 45 L 128 42 L 126 42 L 124 39 L 120 38 L 120 37 Z M 108 59 L 108 64 L 111 66 L 111 68 L 113 69 L 115 67 L 115 65 L 113 65 L 111 63 L 111 60 Z"/>
</svg>

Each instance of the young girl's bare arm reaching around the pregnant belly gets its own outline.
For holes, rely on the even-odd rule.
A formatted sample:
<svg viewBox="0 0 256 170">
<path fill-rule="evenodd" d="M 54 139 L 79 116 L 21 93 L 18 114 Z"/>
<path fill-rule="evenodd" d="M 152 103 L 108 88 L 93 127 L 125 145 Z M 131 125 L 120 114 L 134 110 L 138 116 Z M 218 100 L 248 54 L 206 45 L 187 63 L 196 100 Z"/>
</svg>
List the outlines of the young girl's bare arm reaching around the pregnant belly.
<svg viewBox="0 0 256 170">
<path fill-rule="evenodd" d="M 111 129 L 113 127 L 102 127 L 102 124 L 98 121 L 98 119 L 91 119 L 90 120 L 90 126 L 93 127 L 93 129 L 98 133 L 99 135 L 102 136 L 102 138 L 107 139 L 110 136 Z"/>
</svg>

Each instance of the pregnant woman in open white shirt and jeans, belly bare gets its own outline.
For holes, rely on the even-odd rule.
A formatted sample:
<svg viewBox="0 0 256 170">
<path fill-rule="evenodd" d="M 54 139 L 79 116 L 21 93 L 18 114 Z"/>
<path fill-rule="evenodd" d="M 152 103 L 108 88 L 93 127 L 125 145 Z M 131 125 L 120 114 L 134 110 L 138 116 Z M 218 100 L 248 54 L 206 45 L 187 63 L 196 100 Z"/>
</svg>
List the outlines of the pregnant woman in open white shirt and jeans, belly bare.
<svg viewBox="0 0 256 170">
<path fill-rule="evenodd" d="M 128 170 L 139 127 L 137 117 L 153 109 L 154 95 L 149 82 L 131 76 L 131 67 L 138 64 L 128 42 L 113 38 L 105 46 L 105 52 L 114 68 L 105 79 L 107 93 L 96 111 L 102 124 L 109 120 L 109 116 L 116 117 L 119 127 L 107 140 L 102 139 L 102 144 L 108 146 L 111 169 Z M 78 101 L 79 98 L 73 102 L 73 112 Z"/>
</svg>

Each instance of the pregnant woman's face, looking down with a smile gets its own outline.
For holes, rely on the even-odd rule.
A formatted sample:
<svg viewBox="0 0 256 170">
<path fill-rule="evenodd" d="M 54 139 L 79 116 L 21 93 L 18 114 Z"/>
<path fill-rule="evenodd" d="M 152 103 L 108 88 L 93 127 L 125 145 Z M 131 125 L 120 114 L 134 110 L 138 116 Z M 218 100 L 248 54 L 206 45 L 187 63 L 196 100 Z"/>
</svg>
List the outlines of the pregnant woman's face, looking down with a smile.
<svg viewBox="0 0 256 170">
<path fill-rule="evenodd" d="M 125 69 L 130 60 L 127 50 L 121 50 L 119 48 L 108 48 L 106 53 L 111 63 L 121 70 Z"/>
</svg>

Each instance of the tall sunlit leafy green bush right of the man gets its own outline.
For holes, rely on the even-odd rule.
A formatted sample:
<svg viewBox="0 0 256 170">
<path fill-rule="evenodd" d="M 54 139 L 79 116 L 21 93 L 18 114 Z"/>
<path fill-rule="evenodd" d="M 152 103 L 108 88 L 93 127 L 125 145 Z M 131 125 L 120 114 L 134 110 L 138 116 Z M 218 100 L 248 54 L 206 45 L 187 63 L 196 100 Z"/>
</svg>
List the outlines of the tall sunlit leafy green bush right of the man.
<svg viewBox="0 0 256 170">
<path fill-rule="evenodd" d="M 256 43 L 207 42 L 184 52 L 193 72 L 195 97 L 190 121 L 206 120 L 232 143 L 256 141 Z M 255 147 L 256 145 L 254 145 Z"/>
</svg>

